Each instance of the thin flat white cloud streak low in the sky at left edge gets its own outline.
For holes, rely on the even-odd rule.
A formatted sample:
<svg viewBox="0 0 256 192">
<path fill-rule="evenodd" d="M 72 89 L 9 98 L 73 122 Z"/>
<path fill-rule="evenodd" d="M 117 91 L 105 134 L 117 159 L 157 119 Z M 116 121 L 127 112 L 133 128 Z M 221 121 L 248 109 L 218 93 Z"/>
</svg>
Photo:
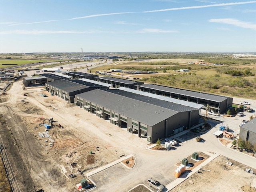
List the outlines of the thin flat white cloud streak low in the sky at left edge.
<svg viewBox="0 0 256 192">
<path fill-rule="evenodd" d="M 40 35 L 40 34 L 89 34 L 102 32 L 98 30 L 90 30 L 90 31 L 50 31 L 50 30 L 9 30 L 3 31 L 1 34 L 26 34 L 26 35 Z"/>
</svg>

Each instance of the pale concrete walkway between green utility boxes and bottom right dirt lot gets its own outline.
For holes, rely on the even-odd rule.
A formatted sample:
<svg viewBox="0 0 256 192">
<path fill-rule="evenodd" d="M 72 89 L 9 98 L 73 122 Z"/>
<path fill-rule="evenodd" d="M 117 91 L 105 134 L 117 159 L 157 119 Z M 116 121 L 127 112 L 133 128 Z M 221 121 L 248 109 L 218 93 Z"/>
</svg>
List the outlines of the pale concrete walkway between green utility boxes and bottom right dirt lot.
<svg viewBox="0 0 256 192">
<path fill-rule="evenodd" d="M 210 154 L 210 153 L 208 153 Z M 216 157 L 218 157 L 220 154 L 210 154 L 211 156 L 206 159 L 204 162 L 202 162 L 200 165 L 196 166 L 192 172 L 190 172 L 189 174 L 184 174 L 182 176 L 180 176 L 179 178 L 177 178 L 176 180 L 174 180 L 173 182 L 171 182 L 170 184 L 166 185 L 166 189 L 167 191 L 172 190 L 174 187 L 176 187 L 178 184 L 182 183 L 183 181 L 185 181 L 186 179 L 188 179 L 190 176 L 192 176 L 192 174 L 194 174 L 195 172 L 197 172 L 198 170 L 200 170 L 200 168 L 202 166 L 205 166 L 206 164 L 208 164 L 209 162 L 211 162 L 212 160 L 214 160 Z M 174 172 L 173 172 L 174 174 Z"/>
</svg>

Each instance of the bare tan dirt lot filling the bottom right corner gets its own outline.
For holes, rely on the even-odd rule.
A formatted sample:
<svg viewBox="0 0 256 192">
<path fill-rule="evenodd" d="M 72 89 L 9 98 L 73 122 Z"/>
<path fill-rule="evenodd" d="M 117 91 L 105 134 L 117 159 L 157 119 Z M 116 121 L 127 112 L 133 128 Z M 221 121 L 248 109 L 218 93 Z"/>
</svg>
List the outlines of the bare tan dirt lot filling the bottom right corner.
<svg viewBox="0 0 256 192">
<path fill-rule="evenodd" d="M 230 166 L 226 162 L 232 162 L 233 165 Z M 250 186 L 252 183 L 256 186 L 256 175 L 246 173 L 246 168 L 248 167 L 244 164 L 219 156 L 171 192 L 255 192 L 256 189 Z"/>
</svg>

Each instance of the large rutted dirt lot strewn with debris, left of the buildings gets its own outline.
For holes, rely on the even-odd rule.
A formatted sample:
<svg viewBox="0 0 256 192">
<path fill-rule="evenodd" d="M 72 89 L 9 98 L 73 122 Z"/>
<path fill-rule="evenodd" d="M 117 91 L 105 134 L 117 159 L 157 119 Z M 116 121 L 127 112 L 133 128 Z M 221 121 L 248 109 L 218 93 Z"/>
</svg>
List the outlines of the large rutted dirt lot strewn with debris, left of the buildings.
<svg viewBox="0 0 256 192">
<path fill-rule="evenodd" d="M 23 92 L 28 96 L 23 96 Z M 38 93 L 45 93 L 48 97 Z M 38 187 L 49 192 L 77 191 L 75 184 L 84 178 L 80 171 L 94 170 L 124 153 L 90 132 L 89 126 L 94 128 L 99 124 L 82 117 L 74 108 L 74 104 L 55 96 L 52 99 L 48 92 L 40 89 L 23 91 L 19 82 L 14 83 L 6 95 L 1 95 L 0 112 L 3 117 L 0 134 L 21 191 L 34 191 Z M 48 130 L 54 140 L 52 147 L 49 138 L 38 135 L 38 132 L 46 131 L 39 124 L 50 117 L 58 121 L 54 125 L 60 123 L 63 126 L 53 126 Z M 87 128 L 86 131 L 81 130 L 83 127 Z M 62 170 L 66 176 L 73 173 L 76 177 L 66 177 Z"/>
</svg>

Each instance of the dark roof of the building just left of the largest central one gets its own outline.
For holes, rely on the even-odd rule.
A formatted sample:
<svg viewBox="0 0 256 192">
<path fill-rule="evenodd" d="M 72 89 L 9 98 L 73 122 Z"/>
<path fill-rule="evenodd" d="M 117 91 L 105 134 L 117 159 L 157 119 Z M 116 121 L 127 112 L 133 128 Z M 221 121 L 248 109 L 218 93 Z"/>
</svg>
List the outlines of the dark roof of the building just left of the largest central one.
<svg viewBox="0 0 256 192">
<path fill-rule="evenodd" d="M 46 83 L 50 86 L 53 86 L 53 87 L 56 87 L 57 89 L 60 89 L 60 90 L 63 90 L 65 92 L 74 92 L 74 91 L 77 91 L 77 90 L 81 90 L 81 89 L 85 89 L 85 88 L 88 88 L 89 86 L 86 86 L 86 85 L 82 85 L 82 84 L 78 84 L 78 83 L 75 83 L 75 82 L 72 82 L 72 81 L 69 81 L 69 80 L 64 80 L 64 79 L 61 79 L 61 80 L 56 80 L 56 81 L 53 81 L 53 82 L 48 82 Z"/>
</svg>

